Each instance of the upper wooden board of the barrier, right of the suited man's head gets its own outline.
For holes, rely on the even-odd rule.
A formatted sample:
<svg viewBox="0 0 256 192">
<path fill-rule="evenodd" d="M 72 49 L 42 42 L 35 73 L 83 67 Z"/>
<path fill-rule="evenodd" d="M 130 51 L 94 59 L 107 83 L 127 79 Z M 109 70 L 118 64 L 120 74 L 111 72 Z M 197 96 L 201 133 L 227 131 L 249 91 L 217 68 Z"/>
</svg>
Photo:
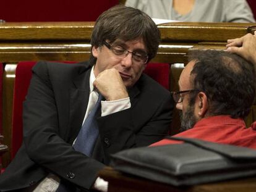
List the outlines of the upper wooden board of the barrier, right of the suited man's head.
<svg viewBox="0 0 256 192">
<path fill-rule="evenodd" d="M 177 22 L 159 25 L 165 41 L 226 41 L 255 30 L 255 23 Z"/>
</svg>

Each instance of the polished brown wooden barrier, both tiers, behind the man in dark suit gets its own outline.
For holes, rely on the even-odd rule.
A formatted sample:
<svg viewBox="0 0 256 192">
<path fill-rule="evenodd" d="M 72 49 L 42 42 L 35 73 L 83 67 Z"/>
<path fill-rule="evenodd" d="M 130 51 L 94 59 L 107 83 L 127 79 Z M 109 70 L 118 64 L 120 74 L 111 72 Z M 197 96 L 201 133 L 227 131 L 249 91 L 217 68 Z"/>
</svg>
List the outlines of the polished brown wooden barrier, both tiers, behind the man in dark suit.
<svg viewBox="0 0 256 192">
<path fill-rule="evenodd" d="M 158 25 L 162 43 L 153 62 L 186 62 L 190 48 L 224 49 L 228 38 L 255 30 L 255 23 L 168 23 Z M 69 60 L 90 56 L 94 22 L 0 24 L 0 61 Z"/>
</svg>

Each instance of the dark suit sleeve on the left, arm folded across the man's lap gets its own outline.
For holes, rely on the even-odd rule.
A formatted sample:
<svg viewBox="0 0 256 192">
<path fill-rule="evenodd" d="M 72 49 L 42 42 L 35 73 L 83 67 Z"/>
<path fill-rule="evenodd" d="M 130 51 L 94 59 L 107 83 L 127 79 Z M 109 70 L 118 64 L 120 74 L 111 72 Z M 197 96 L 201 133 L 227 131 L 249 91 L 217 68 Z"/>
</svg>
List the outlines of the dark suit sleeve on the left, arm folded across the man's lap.
<svg viewBox="0 0 256 192">
<path fill-rule="evenodd" d="M 40 62 L 33 68 L 23 103 L 23 142 L 36 164 L 88 190 L 105 165 L 75 151 L 59 136 L 58 110 L 47 65 Z"/>
</svg>

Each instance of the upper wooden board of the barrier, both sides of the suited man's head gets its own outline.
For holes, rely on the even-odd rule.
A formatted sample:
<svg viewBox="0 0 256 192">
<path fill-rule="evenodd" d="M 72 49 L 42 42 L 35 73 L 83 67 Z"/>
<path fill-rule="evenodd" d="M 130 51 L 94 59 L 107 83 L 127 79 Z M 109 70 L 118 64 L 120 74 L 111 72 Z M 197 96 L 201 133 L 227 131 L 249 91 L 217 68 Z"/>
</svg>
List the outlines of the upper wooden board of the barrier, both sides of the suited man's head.
<svg viewBox="0 0 256 192">
<path fill-rule="evenodd" d="M 1 23 L 0 40 L 90 40 L 94 22 Z M 161 40 L 226 41 L 255 30 L 255 23 L 174 22 L 158 25 Z"/>
</svg>

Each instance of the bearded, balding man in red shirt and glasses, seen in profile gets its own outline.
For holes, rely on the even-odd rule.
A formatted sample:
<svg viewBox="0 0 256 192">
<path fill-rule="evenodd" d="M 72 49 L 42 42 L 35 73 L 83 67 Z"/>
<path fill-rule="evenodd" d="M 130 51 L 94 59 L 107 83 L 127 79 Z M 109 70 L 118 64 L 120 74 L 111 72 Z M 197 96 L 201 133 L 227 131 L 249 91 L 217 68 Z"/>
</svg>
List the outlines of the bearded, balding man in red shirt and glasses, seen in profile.
<svg viewBox="0 0 256 192">
<path fill-rule="evenodd" d="M 179 90 L 173 97 L 182 111 L 182 132 L 175 136 L 256 148 L 256 123 L 246 128 L 244 122 L 255 98 L 253 64 L 227 51 L 195 51 Z"/>
</svg>

